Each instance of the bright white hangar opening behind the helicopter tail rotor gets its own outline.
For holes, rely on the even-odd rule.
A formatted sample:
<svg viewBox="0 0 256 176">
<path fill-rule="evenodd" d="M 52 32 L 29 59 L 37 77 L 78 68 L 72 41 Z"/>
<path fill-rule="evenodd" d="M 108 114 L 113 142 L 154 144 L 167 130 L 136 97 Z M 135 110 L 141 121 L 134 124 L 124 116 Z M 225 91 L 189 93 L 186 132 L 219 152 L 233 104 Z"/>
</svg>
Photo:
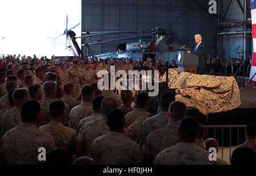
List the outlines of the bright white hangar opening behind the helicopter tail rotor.
<svg viewBox="0 0 256 176">
<path fill-rule="evenodd" d="M 48 58 L 72 55 L 65 50 L 65 35 L 52 38 L 68 28 L 81 36 L 81 0 L 8 0 L 0 1 L 0 54 L 21 54 Z M 81 40 L 77 39 L 81 47 Z"/>
</svg>

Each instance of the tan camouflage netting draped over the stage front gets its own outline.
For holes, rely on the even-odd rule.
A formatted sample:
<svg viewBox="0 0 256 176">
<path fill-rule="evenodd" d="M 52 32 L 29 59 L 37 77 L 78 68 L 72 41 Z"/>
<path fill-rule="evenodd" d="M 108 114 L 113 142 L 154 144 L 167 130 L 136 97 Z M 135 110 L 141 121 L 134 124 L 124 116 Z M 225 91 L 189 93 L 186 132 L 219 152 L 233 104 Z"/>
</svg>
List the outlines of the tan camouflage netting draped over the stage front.
<svg viewBox="0 0 256 176">
<path fill-rule="evenodd" d="M 165 76 L 162 76 L 162 82 L 166 81 Z M 179 74 L 177 68 L 170 68 L 168 80 L 168 87 L 176 89 L 177 101 L 204 115 L 229 111 L 241 105 L 240 90 L 233 76 Z"/>
</svg>

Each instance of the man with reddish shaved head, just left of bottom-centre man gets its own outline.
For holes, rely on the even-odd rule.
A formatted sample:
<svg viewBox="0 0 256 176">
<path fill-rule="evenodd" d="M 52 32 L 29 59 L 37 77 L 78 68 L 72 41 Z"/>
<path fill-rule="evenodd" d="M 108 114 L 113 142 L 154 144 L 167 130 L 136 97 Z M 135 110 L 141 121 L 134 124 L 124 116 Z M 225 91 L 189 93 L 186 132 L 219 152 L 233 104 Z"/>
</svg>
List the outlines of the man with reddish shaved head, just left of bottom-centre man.
<svg viewBox="0 0 256 176">
<path fill-rule="evenodd" d="M 106 125 L 106 115 L 110 110 L 117 108 L 117 103 L 113 97 L 105 97 L 101 102 L 101 115 L 100 119 L 85 123 L 79 131 L 77 136 L 77 156 L 88 156 L 90 153 L 90 145 L 94 139 L 99 136 L 105 135 L 109 132 L 109 127 Z"/>
</svg>

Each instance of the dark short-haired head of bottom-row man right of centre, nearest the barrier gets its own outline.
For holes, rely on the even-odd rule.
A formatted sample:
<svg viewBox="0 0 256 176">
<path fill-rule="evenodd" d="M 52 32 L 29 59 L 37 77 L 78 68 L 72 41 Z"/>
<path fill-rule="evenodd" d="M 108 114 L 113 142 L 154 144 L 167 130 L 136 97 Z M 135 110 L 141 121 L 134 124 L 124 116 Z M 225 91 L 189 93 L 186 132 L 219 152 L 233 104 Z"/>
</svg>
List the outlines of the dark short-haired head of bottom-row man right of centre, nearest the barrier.
<svg viewBox="0 0 256 176">
<path fill-rule="evenodd" d="M 179 122 L 180 135 L 184 139 L 196 139 L 199 130 L 199 123 L 192 117 L 185 117 Z"/>
</svg>

